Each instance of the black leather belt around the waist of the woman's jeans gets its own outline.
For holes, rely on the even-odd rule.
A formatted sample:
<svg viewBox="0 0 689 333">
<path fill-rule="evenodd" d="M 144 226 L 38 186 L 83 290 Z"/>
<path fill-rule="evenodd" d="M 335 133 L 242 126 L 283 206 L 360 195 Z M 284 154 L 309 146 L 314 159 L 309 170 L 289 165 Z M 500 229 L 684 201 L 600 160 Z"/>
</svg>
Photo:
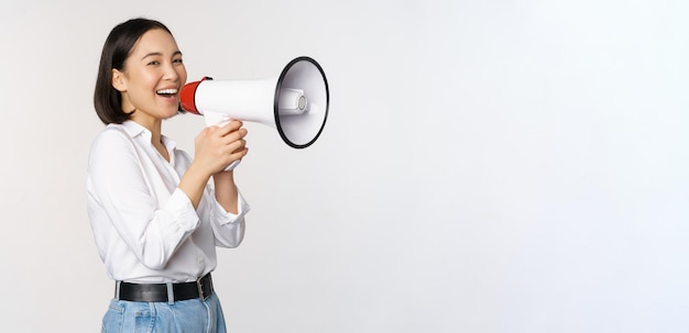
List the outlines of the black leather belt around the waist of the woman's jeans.
<svg viewBox="0 0 689 333">
<path fill-rule="evenodd" d="M 166 284 L 119 284 L 119 290 L 117 286 L 114 290 L 114 298 L 117 299 L 134 302 L 169 301 Z M 184 301 L 195 298 L 206 300 L 212 295 L 212 279 L 210 278 L 210 273 L 194 282 L 172 284 L 172 291 L 174 301 Z"/>
</svg>

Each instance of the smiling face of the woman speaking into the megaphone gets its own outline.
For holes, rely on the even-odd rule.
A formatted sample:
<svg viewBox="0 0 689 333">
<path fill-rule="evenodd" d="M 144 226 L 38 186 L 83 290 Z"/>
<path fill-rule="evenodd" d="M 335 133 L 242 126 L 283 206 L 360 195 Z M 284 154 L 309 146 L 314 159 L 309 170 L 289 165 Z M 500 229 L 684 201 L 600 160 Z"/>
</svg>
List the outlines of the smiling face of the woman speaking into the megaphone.
<svg viewBox="0 0 689 333">
<path fill-rule="evenodd" d="M 122 93 L 124 112 L 143 125 L 177 114 L 179 91 L 187 80 L 182 52 L 162 29 L 144 33 L 124 62 L 112 69 L 112 86 Z"/>
</svg>

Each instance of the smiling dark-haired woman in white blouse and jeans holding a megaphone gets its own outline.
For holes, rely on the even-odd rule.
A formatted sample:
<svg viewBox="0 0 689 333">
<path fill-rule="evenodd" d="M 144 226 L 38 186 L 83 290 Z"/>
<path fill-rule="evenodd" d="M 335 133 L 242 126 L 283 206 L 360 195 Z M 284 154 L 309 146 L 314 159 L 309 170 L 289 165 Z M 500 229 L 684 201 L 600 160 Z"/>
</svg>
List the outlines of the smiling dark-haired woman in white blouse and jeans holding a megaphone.
<svg viewBox="0 0 689 333">
<path fill-rule="evenodd" d="M 161 133 L 187 78 L 162 23 L 132 19 L 106 40 L 95 91 L 107 125 L 87 175 L 88 214 L 114 284 L 102 332 L 226 332 L 210 273 L 236 247 L 249 206 L 223 169 L 247 155 L 239 121 L 201 131 L 194 159 Z"/>
</svg>

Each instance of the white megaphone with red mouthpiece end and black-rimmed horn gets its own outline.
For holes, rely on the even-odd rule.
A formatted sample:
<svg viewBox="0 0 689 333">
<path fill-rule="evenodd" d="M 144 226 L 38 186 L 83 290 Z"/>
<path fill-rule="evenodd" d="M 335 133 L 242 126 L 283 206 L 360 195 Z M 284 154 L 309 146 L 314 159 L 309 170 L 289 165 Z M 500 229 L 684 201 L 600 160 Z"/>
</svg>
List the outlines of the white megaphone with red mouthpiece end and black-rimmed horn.
<svg viewBox="0 0 689 333">
<path fill-rule="evenodd" d="M 184 111 L 203 114 L 208 126 L 232 119 L 258 122 L 275 127 L 291 147 L 305 148 L 326 125 L 330 92 L 320 65 L 297 57 L 272 78 L 189 82 L 179 99 Z"/>
</svg>

